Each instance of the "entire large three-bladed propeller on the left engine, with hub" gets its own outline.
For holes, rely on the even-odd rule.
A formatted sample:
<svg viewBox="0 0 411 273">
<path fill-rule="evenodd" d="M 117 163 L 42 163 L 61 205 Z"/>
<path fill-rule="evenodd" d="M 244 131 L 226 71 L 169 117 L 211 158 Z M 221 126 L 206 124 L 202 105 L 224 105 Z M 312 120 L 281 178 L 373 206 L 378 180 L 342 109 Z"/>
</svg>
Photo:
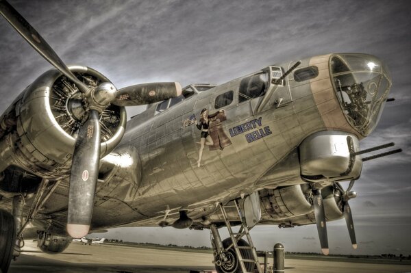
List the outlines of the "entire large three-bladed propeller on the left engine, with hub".
<svg viewBox="0 0 411 273">
<path fill-rule="evenodd" d="M 84 111 L 78 111 L 83 115 L 79 118 L 83 124 L 78 131 L 71 166 L 67 232 L 74 238 L 84 237 L 90 229 L 99 171 L 99 114 L 110 104 L 123 107 L 164 101 L 182 94 L 182 87 L 176 82 L 144 83 L 120 90 L 108 82 L 97 87 L 88 86 L 69 70 L 36 29 L 5 0 L 0 0 L 0 13 L 45 60 L 60 70 L 82 93 L 82 103 L 76 106 L 83 107 Z"/>
</svg>

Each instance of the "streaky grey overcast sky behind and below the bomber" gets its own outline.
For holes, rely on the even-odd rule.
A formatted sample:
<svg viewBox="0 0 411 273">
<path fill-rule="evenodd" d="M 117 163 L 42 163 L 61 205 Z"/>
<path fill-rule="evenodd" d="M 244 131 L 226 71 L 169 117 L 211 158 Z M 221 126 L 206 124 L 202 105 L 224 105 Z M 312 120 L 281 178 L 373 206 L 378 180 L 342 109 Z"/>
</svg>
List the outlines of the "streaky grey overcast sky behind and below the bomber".
<svg viewBox="0 0 411 273">
<path fill-rule="evenodd" d="M 411 254 L 410 1 L 13 1 L 66 64 L 82 64 L 117 88 L 151 81 L 224 83 L 270 64 L 332 52 L 370 53 L 388 64 L 390 96 L 369 148 L 403 153 L 364 163 L 350 200 L 359 248 L 345 220 L 328 223 L 331 253 Z M 51 65 L 0 20 L 0 112 Z M 130 114 L 140 109 L 129 110 Z M 315 225 L 253 229 L 258 249 L 320 251 Z M 101 235 L 103 236 L 103 235 Z M 105 237 L 210 246 L 208 231 L 114 229 Z"/>
</svg>

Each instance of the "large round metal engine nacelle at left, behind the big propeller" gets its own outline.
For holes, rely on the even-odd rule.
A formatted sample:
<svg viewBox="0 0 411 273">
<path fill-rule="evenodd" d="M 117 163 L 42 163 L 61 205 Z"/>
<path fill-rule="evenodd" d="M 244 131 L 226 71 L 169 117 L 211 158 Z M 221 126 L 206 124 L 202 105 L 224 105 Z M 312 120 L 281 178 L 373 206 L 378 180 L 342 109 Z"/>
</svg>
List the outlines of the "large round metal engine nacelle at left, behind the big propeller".
<svg viewBox="0 0 411 273">
<path fill-rule="evenodd" d="M 110 82 L 98 71 L 85 66 L 70 70 L 88 86 Z M 58 70 L 49 70 L 28 86 L 3 117 L 10 127 L 0 135 L 0 172 L 16 165 L 50 179 L 68 173 L 75 146 L 75 134 L 84 122 L 83 94 Z M 12 113 L 12 114 L 11 114 Z M 14 114 L 14 115 L 13 115 Z M 15 122 L 10 122 L 10 116 Z M 1 121 L 1 120 L 0 120 Z M 110 105 L 101 114 L 101 157 L 121 141 L 127 116 L 124 107 Z M 3 122 L 5 123 L 5 122 Z M 11 129 L 10 129 L 11 128 Z M 0 133 L 1 133 L 0 132 Z"/>
</svg>

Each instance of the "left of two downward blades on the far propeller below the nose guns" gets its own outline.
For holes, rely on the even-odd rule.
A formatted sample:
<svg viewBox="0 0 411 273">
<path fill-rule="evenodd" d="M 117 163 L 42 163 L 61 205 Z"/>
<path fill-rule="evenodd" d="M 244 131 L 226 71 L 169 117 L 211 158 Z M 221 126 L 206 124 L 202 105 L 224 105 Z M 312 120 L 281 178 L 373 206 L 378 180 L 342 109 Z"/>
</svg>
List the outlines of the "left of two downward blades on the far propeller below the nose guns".
<svg viewBox="0 0 411 273">
<path fill-rule="evenodd" d="M 314 215 L 317 231 L 319 232 L 321 251 L 324 255 L 328 255 L 327 222 L 325 221 L 323 196 L 321 196 L 320 190 L 314 191 Z"/>
</svg>

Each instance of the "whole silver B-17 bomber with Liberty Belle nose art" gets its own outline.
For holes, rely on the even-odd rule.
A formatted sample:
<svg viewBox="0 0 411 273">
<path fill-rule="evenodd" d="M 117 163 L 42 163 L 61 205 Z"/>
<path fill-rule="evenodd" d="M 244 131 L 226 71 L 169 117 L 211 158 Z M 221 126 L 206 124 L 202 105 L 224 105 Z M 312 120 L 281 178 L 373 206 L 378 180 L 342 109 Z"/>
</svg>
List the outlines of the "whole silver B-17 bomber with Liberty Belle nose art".
<svg viewBox="0 0 411 273">
<path fill-rule="evenodd" d="M 219 86 L 116 89 L 95 69 L 67 67 L 4 0 L 0 11 L 55 67 L 0 117 L 3 273 L 24 239 L 53 254 L 114 226 L 208 229 L 225 273 L 261 272 L 249 233 L 257 224 L 316 224 L 327 255 L 327 221 L 345 218 L 357 247 L 354 181 L 364 161 L 401 151 L 360 150 L 391 86 L 377 57 L 331 53 Z M 148 107 L 127 122 L 132 105 Z"/>
</svg>

